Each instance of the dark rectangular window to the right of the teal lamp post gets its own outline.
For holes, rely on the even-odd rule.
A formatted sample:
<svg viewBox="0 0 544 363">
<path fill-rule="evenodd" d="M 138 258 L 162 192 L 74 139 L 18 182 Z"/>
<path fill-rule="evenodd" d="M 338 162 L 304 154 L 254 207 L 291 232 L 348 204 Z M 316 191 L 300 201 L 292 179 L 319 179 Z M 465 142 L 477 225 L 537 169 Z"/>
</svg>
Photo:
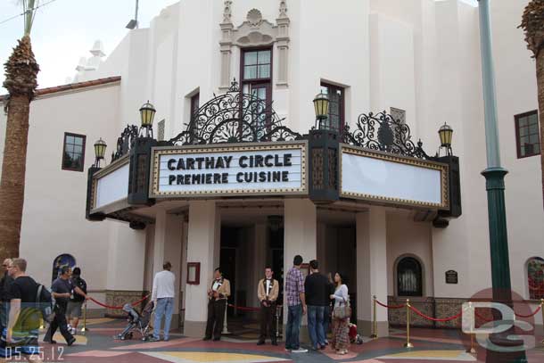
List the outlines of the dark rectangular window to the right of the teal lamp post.
<svg viewBox="0 0 544 363">
<path fill-rule="evenodd" d="M 517 158 L 540 155 L 539 112 L 515 115 Z"/>
</svg>

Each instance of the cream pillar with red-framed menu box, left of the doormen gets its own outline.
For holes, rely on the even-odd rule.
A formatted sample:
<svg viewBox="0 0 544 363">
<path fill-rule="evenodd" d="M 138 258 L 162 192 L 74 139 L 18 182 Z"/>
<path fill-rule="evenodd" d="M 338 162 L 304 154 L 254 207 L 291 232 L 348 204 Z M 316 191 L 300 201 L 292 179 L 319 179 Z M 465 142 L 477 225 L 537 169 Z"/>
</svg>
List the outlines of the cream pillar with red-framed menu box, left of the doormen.
<svg viewBox="0 0 544 363">
<path fill-rule="evenodd" d="M 189 203 L 187 262 L 200 262 L 200 284 L 186 285 L 184 334 L 202 337 L 208 313 L 207 292 L 219 262 L 220 219 L 214 201 Z"/>
</svg>

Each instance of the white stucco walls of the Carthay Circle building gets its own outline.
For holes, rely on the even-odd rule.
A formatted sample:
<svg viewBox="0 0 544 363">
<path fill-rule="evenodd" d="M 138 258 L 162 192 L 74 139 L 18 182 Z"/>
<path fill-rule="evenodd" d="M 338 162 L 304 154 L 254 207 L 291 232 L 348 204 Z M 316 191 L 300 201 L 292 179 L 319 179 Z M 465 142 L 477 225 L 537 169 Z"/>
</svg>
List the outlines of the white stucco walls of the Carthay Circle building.
<svg viewBox="0 0 544 363">
<path fill-rule="evenodd" d="M 261 211 L 276 214 L 280 208 L 284 215 L 284 270 L 296 253 L 305 261 L 325 259 L 324 265 L 330 268 L 342 264 L 342 258 L 336 251 L 329 252 L 323 241 L 341 243 L 342 227 L 350 225 L 357 229 L 356 234 L 347 234 L 357 248 L 353 290 L 362 321 L 370 320 L 372 294 L 385 300 L 396 296 L 394 270 L 403 256 L 413 256 L 423 266 L 423 298 L 467 299 L 489 288 L 487 198 L 480 174 L 486 158 L 478 9 L 457 0 L 342 0 L 334 4 L 233 0 L 228 10 L 233 29 L 242 29 L 253 8 L 260 11 L 263 21 L 277 26 L 283 3 L 289 19 L 287 48 L 282 43 L 284 35 L 271 45 L 270 84 L 274 110 L 285 118 L 284 124 L 300 133 L 314 126 L 312 100 L 323 82 L 343 87 L 344 117 L 351 127 L 363 112 L 389 112 L 392 107 L 406 111 L 414 141 L 421 138 L 429 154 L 437 150 L 437 130 L 447 122 L 455 130 L 453 153 L 460 160 L 463 206 L 462 216 L 440 229 L 430 221 L 415 221 L 410 210 L 395 207 L 373 206 L 365 212 L 332 216 L 334 211 L 308 200 L 272 201 L 281 207 L 265 202 Z M 534 61 L 522 30 L 516 28 L 526 3 L 495 1 L 491 16 L 500 153 L 509 170 L 510 272 L 515 292 L 529 299 L 526 262 L 535 256 L 544 258 L 544 211 L 540 157 L 516 156 L 514 117 L 537 109 Z M 96 291 L 96 299 L 105 300 L 106 291 L 149 290 L 152 273 L 169 259 L 177 271 L 177 288 L 185 296 L 177 301 L 178 309 L 185 308 L 185 323 L 198 328 L 205 320 L 202 301 L 186 296 L 204 299 L 205 284 L 219 263 L 220 220 L 237 225 L 237 211 L 229 212 L 230 207 L 216 206 L 213 200 L 186 206 L 164 203 L 146 211 L 155 223 L 145 231 L 112 220 L 89 222 L 83 214 L 87 173 L 62 170 L 62 136 L 64 132 L 87 136 L 87 170 L 94 161 L 95 140 L 106 140 L 107 154 L 111 153 L 120 131 L 127 124 L 139 123 L 138 109 L 147 100 L 157 109 L 155 121 L 165 120 L 165 139 L 185 130 L 193 95 L 199 94 L 202 105 L 225 92 L 222 78 L 226 74 L 228 79 L 240 78 L 243 47 L 236 42 L 242 30 L 235 32 L 230 53 L 221 52 L 225 49 L 220 26 L 226 23 L 225 6 L 222 1 L 181 0 L 164 9 L 149 29 L 129 31 L 98 69 L 78 75 L 80 81 L 120 76 L 119 82 L 38 96 L 31 103 L 21 256 L 29 260 L 29 272 L 37 279 L 47 281 L 54 258 L 70 253 Z M 223 58 L 227 53 L 229 62 Z M 280 79 L 282 73 L 286 79 Z M 0 114 L 3 125 L 4 120 Z M 153 131 L 156 136 L 157 122 Z M 0 146 L 4 147 L 4 128 Z M 188 213 L 188 222 L 179 217 L 183 213 Z M 197 217 L 191 218 L 191 213 Z M 251 219 L 251 213 L 242 212 L 238 220 L 244 216 Z M 259 233 L 262 223 L 255 220 L 249 241 L 266 238 L 264 232 Z M 166 230 L 168 226 L 172 227 Z M 203 242 L 191 243 L 197 240 Z M 267 257 L 251 253 L 249 260 L 260 268 L 254 261 L 264 263 Z M 328 260 L 332 256 L 334 263 Z M 191 260 L 202 260 L 204 285 L 185 286 L 185 265 Z M 378 270 L 360 267 L 361 261 Z M 457 285 L 446 284 L 448 270 L 457 271 Z M 249 277 L 253 280 L 254 276 Z M 252 289 L 247 293 L 253 294 Z M 384 314 L 379 318 L 386 319 Z M 541 318 L 537 321 L 542 324 Z"/>
</svg>

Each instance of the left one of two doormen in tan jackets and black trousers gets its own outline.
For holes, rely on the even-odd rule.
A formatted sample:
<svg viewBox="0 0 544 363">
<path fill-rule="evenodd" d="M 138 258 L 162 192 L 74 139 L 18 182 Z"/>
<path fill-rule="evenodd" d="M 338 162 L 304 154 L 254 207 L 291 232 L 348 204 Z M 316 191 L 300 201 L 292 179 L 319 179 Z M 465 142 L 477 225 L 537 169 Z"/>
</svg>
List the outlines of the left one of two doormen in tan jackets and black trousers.
<svg viewBox="0 0 544 363">
<path fill-rule="evenodd" d="M 214 278 L 211 280 L 210 289 L 208 289 L 208 321 L 206 322 L 206 334 L 204 341 L 221 339 L 221 329 L 225 320 L 225 309 L 227 309 L 227 299 L 230 296 L 230 282 L 223 277 L 221 268 L 213 271 Z"/>
</svg>

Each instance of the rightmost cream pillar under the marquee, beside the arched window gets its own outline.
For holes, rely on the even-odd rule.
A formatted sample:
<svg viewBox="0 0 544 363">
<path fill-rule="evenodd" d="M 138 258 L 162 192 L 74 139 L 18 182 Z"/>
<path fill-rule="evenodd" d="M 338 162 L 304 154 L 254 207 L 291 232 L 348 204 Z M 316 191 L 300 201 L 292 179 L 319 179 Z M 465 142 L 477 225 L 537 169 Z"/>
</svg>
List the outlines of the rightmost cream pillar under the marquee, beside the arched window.
<svg viewBox="0 0 544 363">
<path fill-rule="evenodd" d="M 357 320 L 362 334 L 372 334 L 373 299 L 387 302 L 387 223 L 383 207 L 357 213 Z M 377 334 L 389 335 L 387 309 L 378 307 Z"/>
</svg>

